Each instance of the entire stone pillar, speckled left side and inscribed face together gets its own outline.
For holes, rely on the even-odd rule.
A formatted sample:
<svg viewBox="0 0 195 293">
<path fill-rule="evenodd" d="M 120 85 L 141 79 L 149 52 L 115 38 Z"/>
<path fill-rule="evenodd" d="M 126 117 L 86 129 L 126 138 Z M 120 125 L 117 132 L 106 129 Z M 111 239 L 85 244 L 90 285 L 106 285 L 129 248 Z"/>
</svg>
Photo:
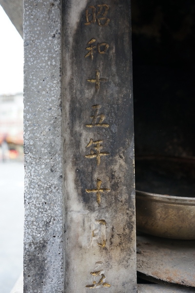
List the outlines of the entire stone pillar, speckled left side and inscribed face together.
<svg viewBox="0 0 195 293">
<path fill-rule="evenodd" d="M 24 293 L 136 293 L 130 0 L 24 0 L 24 50 Z"/>
</svg>

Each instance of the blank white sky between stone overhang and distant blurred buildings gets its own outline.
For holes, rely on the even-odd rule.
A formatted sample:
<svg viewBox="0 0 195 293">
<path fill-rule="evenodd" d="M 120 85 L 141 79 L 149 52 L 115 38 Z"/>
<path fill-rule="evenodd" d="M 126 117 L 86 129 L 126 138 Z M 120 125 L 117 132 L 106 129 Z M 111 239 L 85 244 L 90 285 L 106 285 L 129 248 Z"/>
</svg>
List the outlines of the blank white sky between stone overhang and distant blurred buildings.
<svg viewBox="0 0 195 293">
<path fill-rule="evenodd" d="M 23 91 L 23 40 L 0 6 L 0 95 Z"/>
</svg>

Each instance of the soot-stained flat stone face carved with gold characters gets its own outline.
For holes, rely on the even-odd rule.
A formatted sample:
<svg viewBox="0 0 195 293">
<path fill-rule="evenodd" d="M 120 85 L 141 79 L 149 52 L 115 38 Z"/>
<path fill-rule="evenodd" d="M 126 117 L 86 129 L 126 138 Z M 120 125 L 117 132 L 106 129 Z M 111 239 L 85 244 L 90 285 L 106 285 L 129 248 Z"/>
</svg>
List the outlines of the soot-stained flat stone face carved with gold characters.
<svg viewBox="0 0 195 293">
<path fill-rule="evenodd" d="M 63 13 L 65 292 L 135 293 L 129 0 L 66 0 Z"/>
</svg>

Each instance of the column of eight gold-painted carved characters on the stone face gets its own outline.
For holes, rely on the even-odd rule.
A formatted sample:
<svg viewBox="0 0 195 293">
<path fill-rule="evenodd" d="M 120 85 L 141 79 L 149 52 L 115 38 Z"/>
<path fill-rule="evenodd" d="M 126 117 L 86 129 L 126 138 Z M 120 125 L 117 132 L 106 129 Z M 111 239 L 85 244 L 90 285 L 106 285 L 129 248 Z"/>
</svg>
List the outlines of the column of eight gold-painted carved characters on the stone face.
<svg viewBox="0 0 195 293">
<path fill-rule="evenodd" d="M 107 4 L 100 4 L 97 6 L 88 6 L 85 11 L 85 17 L 86 17 L 86 26 L 90 25 L 98 25 L 100 27 L 105 27 L 109 25 L 110 19 L 108 18 L 109 13 L 109 5 Z M 85 58 L 90 58 L 91 62 L 93 62 L 94 55 L 99 54 L 102 56 L 108 53 L 109 50 L 109 43 L 107 43 L 105 40 L 100 40 L 100 42 L 97 41 L 96 38 L 92 38 L 87 42 L 86 47 L 86 55 Z M 105 64 L 106 65 L 106 64 Z M 98 90 L 100 89 L 100 86 L 102 83 L 107 83 L 108 78 L 102 77 L 101 72 L 98 68 L 95 69 L 95 76 L 92 78 L 87 79 L 88 83 L 91 83 L 92 85 L 95 85 L 95 92 L 98 93 Z M 99 171 L 100 171 L 100 165 L 101 160 L 103 160 L 104 156 L 109 156 L 110 153 L 106 150 L 104 150 L 104 141 L 103 139 L 96 140 L 93 136 L 93 129 L 98 127 L 102 129 L 108 128 L 110 125 L 105 121 L 106 116 L 103 113 L 99 113 L 101 108 L 101 101 L 99 104 L 92 105 L 93 109 L 93 115 L 90 116 L 91 123 L 86 124 L 85 126 L 90 128 L 92 131 L 91 137 L 89 137 L 89 142 L 86 145 L 86 148 L 91 148 L 90 153 L 87 153 L 85 155 L 86 159 L 91 159 L 94 162 L 94 164 L 97 165 Z M 98 205 L 98 208 L 101 204 L 101 195 L 103 193 L 108 193 L 111 190 L 109 188 L 105 188 L 103 185 L 103 182 L 101 179 L 97 178 L 96 187 L 93 189 L 85 189 L 85 191 L 91 195 L 96 195 L 96 202 Z M 89 247 L 93 245 L 94 242 L 97 243 L 97 245 L 100 247 L 100 249 L 104 249 L 106 247 L 106 220 L 105 219 L 96 219 L 95 223 L 92 224 L 92 235 Z M 98 241 L 99 239 L 99 231 L 101 234 L 101 241 Z M 103 261 L 98 261 L 95 264 L 94 271 L 91 272 L 91 275 L 93 276 L 93 284 L 86 285 L 85 287 L 88 289 L 95 289 L 95 288 L 109 288 L 111 287 L 111 284 L 107 283 L 106 276 L 105 276 L 105 268 Z"/>
</svg>

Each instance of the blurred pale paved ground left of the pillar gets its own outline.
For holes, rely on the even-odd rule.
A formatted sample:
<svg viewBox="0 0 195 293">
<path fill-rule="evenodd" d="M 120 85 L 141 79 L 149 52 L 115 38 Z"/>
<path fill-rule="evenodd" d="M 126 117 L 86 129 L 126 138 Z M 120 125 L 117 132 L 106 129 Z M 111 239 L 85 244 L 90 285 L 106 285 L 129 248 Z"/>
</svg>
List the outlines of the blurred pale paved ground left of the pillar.
<svg viewBox="0 0 195 293">
<path fill-rule="evenodd" d="M 23 163 L 0 161 L 0 293 L 10 293 L 22 272 Z"/>
</svg>

